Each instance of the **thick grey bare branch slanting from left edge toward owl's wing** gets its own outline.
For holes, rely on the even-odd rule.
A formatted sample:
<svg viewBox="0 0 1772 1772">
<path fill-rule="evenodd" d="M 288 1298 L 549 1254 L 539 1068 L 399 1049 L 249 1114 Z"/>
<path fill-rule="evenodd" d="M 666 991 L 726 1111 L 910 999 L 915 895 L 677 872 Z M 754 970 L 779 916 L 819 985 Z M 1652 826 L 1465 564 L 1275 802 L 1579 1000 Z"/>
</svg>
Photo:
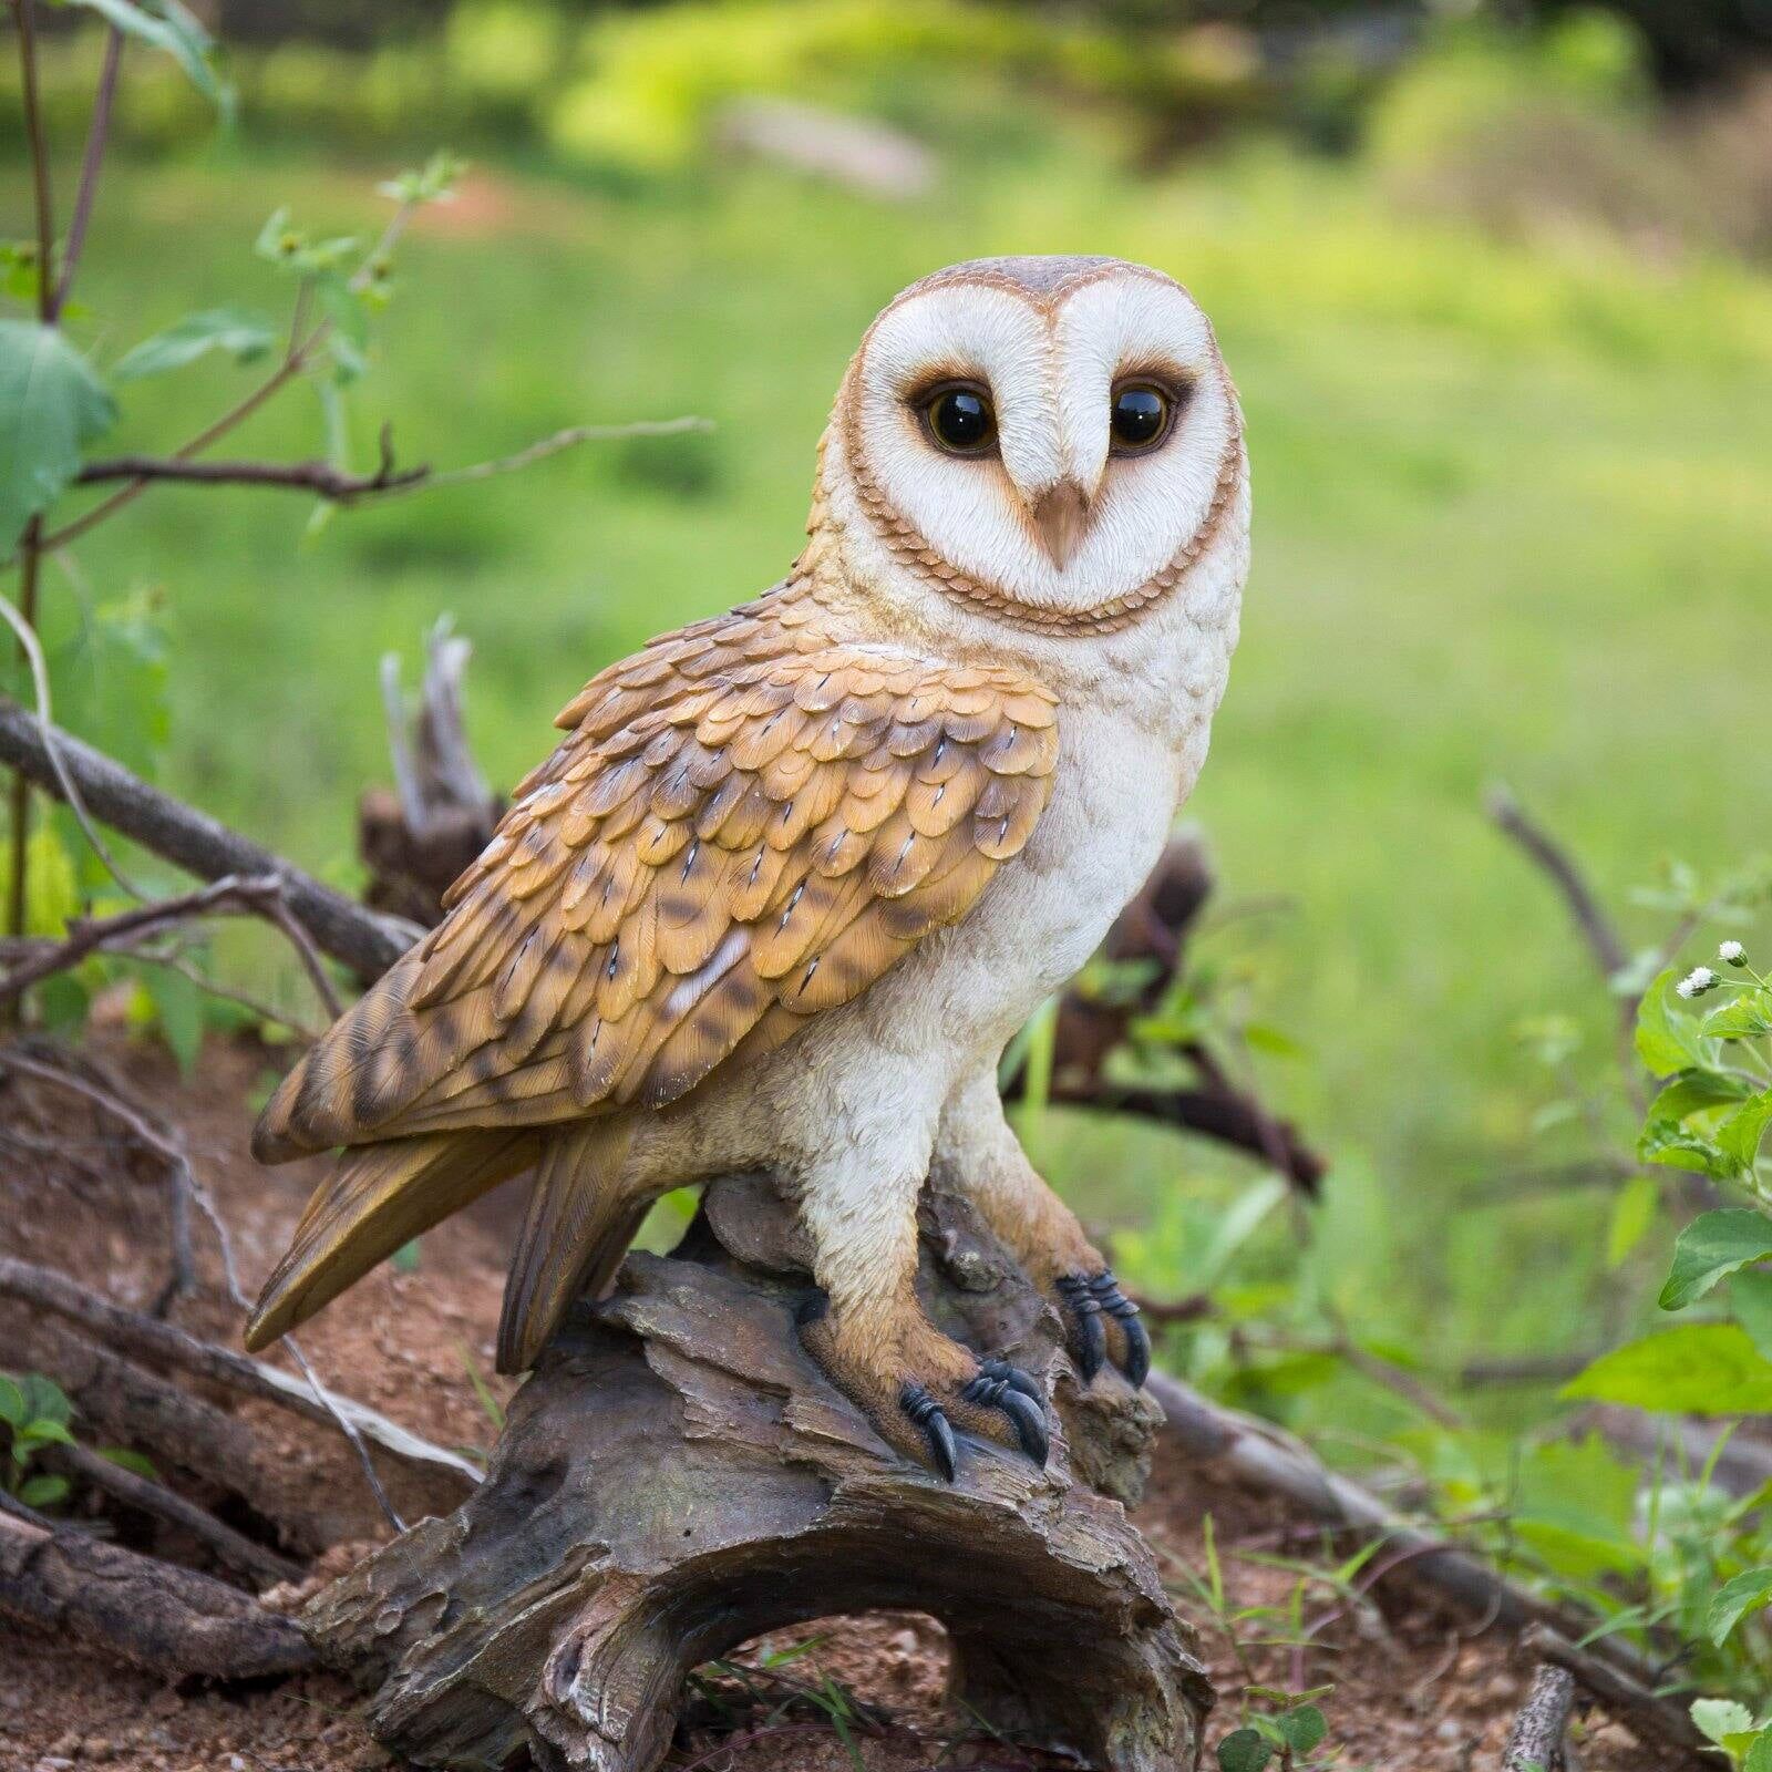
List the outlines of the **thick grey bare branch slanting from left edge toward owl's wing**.
<svg viewBox="0 0 1772 1772">
<path fill-rule="evenodd" d="M 58 727 L 39 730 L 37 719 L 16 702 L 0 698 L 0 762 L 39 787 L 66 797 L 60 769 L 96 819 L 142 843 L 198 879 L 275 875 L 282 902 L 314 944 L 365 976 L 386 971 L 411 946 L 418 930 L 377 916 L 344 893 L 225 824 L 149 787 L 103 751 Z M 58 769 L 60 766 L 60 769 Z"/>
</svg>

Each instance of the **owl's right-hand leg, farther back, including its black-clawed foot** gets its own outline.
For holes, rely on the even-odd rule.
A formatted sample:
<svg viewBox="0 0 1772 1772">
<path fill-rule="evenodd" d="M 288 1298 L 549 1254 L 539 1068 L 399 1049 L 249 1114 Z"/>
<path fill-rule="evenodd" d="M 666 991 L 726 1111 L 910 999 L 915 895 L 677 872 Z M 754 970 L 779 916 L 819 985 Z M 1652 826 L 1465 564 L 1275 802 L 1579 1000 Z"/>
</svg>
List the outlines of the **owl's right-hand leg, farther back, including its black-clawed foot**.
<svg viewBox="0 0 1772 1772">
<path fill-rule="evenodd" d="M 1008 1122 L 996 1072 L 962 1088 L 941 1118 L 936 1168 L 966 1191 L 1065 1324 L 1084 1384 L 1113 1363 L 1134 1386 L 1150 1373 L 1150 1336 L 1077 1216 L 1028 1161 Z"/>
</svg>

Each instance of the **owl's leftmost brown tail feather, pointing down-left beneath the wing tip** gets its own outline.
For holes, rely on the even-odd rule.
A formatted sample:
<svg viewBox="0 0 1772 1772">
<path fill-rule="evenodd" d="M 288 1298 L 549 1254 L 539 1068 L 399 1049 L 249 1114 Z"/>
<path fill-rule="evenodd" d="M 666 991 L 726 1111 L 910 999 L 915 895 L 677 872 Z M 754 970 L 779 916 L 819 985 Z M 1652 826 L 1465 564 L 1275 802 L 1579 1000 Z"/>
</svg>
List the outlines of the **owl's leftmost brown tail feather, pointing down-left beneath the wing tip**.
<svg viewBox="0 0 1772 1772">
<path fill-rule="evenodd" d="M 535 1155 L 535 1134 L 521 1129 L 429 1132 L 344 1152 L 266 1281 L 246 1324 L 246 1347 L 257 1352 L 307 1322 L 377 1262 Z"/>
</svg>

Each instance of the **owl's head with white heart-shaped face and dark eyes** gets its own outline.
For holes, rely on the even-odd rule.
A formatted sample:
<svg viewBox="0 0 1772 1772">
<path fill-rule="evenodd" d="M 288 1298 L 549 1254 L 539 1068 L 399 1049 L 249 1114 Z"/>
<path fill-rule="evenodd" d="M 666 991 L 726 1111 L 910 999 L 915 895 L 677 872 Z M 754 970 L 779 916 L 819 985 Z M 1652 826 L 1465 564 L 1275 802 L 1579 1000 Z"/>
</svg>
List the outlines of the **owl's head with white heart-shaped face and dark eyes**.
<svg viewBox="0 0 1772 1772">
<path fill-rule="evenodd" d="M 1237 395 L 1173 278 L 976 259 L 868 328 L 820 493 L 898 571 L 1012 626 L 1113 631 L 1246 542 Z"/>
</svg>

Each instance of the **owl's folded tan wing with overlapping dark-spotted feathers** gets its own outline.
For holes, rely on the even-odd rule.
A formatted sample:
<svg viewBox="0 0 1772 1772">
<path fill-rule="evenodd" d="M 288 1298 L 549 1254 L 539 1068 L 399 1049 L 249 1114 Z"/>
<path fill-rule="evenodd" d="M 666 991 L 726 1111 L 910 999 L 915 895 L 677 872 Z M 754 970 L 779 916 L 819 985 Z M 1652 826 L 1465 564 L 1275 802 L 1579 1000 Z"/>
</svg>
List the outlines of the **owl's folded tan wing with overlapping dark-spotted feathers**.
<svg viewBox="0 0 1772 1772">
<path fill-rule="evenodd" d="M 1054 696 L 769 601 L 597 677 L 448 918 L 291 1074 L 268 1161 L 663 1106 L 957 921 L 1051 792 Z"/>
</svg>

